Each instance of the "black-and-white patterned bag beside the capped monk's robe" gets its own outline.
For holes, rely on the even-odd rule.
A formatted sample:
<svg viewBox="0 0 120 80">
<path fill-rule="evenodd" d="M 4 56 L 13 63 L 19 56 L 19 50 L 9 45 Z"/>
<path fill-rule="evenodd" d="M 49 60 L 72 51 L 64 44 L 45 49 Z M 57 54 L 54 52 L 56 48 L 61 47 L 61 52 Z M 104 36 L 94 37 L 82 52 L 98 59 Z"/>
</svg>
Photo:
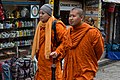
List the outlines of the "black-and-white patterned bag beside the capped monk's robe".
<svg viewBox="0 0 120 80">
<path fill-rule="evenodd" d="M 26 79 L 34 76 L 34 62 L 30 58 L 18 58 L 11 65 L 11 73 L 14 79 Z"/>
</svg>

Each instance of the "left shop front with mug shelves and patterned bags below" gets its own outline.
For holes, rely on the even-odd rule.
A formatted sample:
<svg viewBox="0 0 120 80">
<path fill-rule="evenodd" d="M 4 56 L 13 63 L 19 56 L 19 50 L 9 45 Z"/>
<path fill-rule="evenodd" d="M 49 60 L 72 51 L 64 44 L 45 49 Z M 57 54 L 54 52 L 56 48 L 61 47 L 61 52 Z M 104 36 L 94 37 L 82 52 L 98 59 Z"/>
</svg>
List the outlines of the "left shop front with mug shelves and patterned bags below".
<svg viewBox="0 0 120 80">
<path fill-rule="evenodd" d="M 0 0 L 0 79 L 33 80 L 31 45 L 40 1 Z"/>
</svg>

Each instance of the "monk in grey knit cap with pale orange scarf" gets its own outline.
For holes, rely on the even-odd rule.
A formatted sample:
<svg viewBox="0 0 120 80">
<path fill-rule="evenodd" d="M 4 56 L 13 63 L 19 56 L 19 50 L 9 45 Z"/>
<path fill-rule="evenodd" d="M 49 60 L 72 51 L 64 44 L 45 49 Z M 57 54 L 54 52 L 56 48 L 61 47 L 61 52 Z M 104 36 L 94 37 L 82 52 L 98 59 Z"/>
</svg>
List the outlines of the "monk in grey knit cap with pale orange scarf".
<svg viewBox="0 0 120 80">
<path fill-rule="evenodd" d="M 64 50 L 69 48 L 69 39 L 66 33 L 66 26 L 62 21 L 56 23 L 56 37 L 57 43 L 54 41 L 54 30 L 52 29 L 52 22 L 56 20 L 52 16 L 52 6 L 44 4 L 39 11 L 40 21 L 36 27 L 36 32 L 32 45 L 32 59 L 36 55 L 38 60 L 38 69 L 36 71 L 35 80 L 51 80 L 52 76 L 52 58 L 56 56 L 56 80 L 62 80 L 62 70 L 60 66 L 60 59 L 62 58 Z M 56 52 L 55 55 L 50 55 L 51 52 Z"/>
</svg>

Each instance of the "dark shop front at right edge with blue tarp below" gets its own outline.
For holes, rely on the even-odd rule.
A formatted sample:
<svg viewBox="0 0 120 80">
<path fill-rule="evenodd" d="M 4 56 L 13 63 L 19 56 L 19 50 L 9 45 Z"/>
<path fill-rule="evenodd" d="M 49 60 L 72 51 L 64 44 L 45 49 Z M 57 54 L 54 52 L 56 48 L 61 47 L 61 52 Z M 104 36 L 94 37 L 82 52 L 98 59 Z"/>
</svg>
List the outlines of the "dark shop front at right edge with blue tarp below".
<svg viewBox="0 0 120 80">
<path fill-rule="evenodd" d="M 106 32 L 107 56 L 112 60 L 120 59 L 120 1 L 103 0 L 104 26 Z"/>
</svg>

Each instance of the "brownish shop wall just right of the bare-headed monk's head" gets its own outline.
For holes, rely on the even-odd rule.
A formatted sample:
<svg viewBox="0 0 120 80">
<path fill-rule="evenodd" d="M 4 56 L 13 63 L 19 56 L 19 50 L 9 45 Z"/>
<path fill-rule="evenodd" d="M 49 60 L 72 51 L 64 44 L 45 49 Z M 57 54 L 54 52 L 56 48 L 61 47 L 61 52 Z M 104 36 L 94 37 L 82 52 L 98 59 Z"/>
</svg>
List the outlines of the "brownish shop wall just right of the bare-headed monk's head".
<svg viewBox="0 0 120 80">
<path fill-rule="evenodd" d="M 99 0 L 86 0 L 85 1 L 85 21 L 88 21 L 89 18 L 92 18 L 94 20 L 94 27 L 100 27 L 98 26 L 98 24 L 100 24 L 99 22 L 99 18 L 101 16 L 99 16 L 99 14 L 101 14 L 99 12 Z"/>
</svg>

